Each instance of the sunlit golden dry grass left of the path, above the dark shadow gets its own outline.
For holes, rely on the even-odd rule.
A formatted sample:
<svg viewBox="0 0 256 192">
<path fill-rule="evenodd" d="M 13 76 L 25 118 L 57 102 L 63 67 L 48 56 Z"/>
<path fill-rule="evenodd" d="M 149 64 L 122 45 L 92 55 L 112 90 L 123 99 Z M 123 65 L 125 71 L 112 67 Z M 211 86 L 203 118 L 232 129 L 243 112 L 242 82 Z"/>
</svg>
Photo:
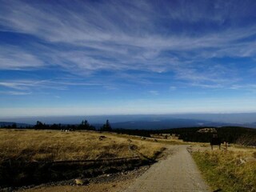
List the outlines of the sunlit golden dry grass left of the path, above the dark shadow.
<svg viewBox="0 0 256 192">
<path fill-rule="evenodd" d="M 100 136 L 106 138 L 100 139 Z M 130 142 L 131 141 L 131 142 Z M 94 131 L 61 132 L 58 130 L 0 130 L 0 161 L 88 160 L 132 157 L 130 143 L 148 158 L 164 144 L 119 137 Z"/>
</svg>

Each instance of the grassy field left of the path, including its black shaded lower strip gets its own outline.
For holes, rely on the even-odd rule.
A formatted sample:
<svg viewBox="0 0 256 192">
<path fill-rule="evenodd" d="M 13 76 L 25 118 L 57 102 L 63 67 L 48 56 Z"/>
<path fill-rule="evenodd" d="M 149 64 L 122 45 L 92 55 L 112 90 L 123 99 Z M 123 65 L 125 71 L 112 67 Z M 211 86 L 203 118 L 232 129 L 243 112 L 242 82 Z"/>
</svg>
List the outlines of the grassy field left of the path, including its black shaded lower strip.
<svg viewBox="0 0 256 192">
<path fill-rule="evenodd" d="M 164 146 L 154 139 L 95 131 L 2 129 L 0 186 L 40 184 L 130 170 L 154 161 Z"/>
</svg>

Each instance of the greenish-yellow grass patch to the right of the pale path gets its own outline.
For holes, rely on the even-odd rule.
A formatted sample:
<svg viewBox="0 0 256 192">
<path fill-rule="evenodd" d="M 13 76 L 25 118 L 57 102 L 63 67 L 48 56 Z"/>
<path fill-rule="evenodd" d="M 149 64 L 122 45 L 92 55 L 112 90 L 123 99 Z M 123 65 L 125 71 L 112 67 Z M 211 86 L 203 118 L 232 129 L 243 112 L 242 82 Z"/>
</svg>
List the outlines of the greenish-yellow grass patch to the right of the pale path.
<svg viewBox="0 0 256 192">
<path fill-rule="evenodd" d="M 213 190 L 256 191 L 254 151 L 194 152 L 193 157 Z"/>
</svg>

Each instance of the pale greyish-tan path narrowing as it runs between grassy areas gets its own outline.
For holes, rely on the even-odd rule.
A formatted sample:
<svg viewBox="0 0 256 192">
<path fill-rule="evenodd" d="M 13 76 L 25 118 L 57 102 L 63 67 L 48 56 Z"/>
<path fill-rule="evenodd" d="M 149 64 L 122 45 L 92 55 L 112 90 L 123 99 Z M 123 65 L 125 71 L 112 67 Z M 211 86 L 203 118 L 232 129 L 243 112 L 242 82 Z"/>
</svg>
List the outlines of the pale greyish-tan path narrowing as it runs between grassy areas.
<svg viewBox="0 0 256 192">
<path fill-rule="evenodd" d="M 186 147 L 171 146 L 166 159 L 151 166 L 125 191 L 210 191 Z"/>
</svg>

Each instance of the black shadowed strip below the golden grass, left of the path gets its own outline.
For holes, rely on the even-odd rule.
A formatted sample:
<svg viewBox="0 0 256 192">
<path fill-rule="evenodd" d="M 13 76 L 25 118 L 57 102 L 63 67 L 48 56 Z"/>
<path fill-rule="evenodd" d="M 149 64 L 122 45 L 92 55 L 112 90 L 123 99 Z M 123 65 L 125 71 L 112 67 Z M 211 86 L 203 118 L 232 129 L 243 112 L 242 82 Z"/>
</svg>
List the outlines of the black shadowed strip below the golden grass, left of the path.
<svg viewBox="0 0 256 192">
<path fill-rule="evenodd" d="M 8 160 L 0 164 L 0 186 L 28 186 L 71 178 L 92 178 L 134 170 L 153 162 L 138 157 L 99 159 L 97 161 L 26 162 Z"/>
</svg>

